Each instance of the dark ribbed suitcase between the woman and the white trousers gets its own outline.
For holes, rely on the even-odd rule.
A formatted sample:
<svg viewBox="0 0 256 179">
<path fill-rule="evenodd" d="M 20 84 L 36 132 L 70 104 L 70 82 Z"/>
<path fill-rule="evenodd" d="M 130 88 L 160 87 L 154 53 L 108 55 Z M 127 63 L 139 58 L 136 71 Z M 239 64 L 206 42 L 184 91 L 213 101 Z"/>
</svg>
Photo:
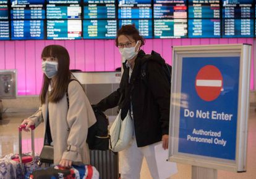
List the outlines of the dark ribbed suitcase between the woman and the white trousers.
<svg viewBox="0 0 256 179">
<path fill-rule="evenodd" d="M 102 179 L 118 179 L 118 153 L 111 150 L 90 150 L 90 164 L 95 166 Z"/>
</svg>

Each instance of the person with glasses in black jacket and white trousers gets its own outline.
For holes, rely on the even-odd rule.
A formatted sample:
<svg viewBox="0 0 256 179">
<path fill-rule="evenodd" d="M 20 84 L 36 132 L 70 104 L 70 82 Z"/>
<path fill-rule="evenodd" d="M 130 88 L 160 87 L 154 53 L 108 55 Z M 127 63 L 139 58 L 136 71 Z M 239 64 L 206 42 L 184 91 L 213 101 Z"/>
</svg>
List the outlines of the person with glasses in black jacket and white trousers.
<svg viewBox="0 0 256 179">
<path fill-rule="evenodd" d="M 163 71 L 165 62 L 157 53 L 146 55 L 140 50 L 143 44 L 144 39 L 134 25 L 124 25 L 117 32 L 116 46 L 124 69 L 121 83 L 119 89 L 96 105 L 103 111 L 118 105 L 122 119 L 130 109 L 134 140 L 119 153 L 122 179 L 140 178 L 143 156 L 151 176 L 159 178 L 154 146 L 162 142 L 163 148 L 168 148 L 170 86 Z M 147 63 L 146 74 L 142 74 L 144 63 Z"/>
</svg>

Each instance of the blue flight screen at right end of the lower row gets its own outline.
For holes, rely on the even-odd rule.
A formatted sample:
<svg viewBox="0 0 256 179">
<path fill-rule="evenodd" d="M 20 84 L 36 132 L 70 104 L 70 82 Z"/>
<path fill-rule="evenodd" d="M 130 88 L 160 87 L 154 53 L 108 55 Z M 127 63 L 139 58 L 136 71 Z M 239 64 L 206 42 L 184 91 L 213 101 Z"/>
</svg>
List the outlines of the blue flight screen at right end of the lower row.
<svg viewBox="0 0 256 179">
<path fill-rule="evenodd" d="M 223 38 L 254 37 L 254 20 L 250 18 L 222 20 Z"/>
</svg>

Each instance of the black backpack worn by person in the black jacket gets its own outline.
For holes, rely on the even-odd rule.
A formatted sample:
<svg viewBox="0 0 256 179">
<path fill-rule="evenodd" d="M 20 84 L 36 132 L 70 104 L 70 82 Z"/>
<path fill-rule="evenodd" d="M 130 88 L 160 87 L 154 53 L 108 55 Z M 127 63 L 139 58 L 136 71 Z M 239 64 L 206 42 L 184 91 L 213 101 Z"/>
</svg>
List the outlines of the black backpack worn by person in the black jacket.
<svg viewBox="0 0 256 179">
<path fill-rule="evenodd" d="M 156 53 L 155 51 L 152 50 L 151 55 L 147 54 L 143 58 L 151 58 L 152 55 L 157 55 L 159 58 L 162 58 L 160 54 Z M 145 62 L 142 63 L 142 66 L 140 68 L 140 74 L 143 82 L 148 86 L 148 80 L 147 80 L 147 67 L 148 67 L 148 59 L 145 60 Z M 166 76 L 166 79 L 169 82 L 169 87 L 171 87 L 171 71 L 172 67 L 168 63 L 165 63 L 164 65 L 161 65 L 164 74 Z"/>
</svg>

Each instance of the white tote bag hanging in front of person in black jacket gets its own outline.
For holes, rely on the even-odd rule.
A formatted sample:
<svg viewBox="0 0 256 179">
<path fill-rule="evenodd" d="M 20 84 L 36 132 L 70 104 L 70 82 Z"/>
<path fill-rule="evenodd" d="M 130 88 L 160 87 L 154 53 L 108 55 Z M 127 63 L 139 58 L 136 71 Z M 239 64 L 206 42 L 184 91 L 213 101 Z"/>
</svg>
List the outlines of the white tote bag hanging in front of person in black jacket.
<svg viewBox="0 0 256 179">
<path fill-rule="evenodd" d="M 128 111 L 126 118 L 121 119 L 121 110 L 119 111 L 114 123 L 109 129 L 109 135 L 111 140 L 111 150 L 114 152 L 122 151 L 127 148 L 132 140 L 132 132 L 134 130 L 132 124 L 132 118 Z"/>
</svg>

